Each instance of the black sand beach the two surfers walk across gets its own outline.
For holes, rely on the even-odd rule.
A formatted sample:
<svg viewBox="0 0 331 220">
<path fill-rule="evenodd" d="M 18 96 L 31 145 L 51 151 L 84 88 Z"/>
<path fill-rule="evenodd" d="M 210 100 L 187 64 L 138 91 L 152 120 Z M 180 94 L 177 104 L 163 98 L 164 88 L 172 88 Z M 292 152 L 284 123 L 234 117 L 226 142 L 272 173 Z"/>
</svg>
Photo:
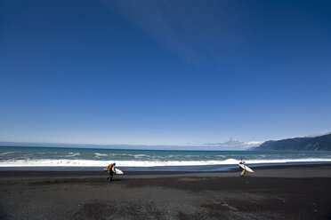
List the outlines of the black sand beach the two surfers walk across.
<svg viewBox="0 0 331 220">
<path fill-rule="evenodd" d="M 1 171 L 0 219 L 331 219 L 331 164 L 254 170 Z"/>
</svg>

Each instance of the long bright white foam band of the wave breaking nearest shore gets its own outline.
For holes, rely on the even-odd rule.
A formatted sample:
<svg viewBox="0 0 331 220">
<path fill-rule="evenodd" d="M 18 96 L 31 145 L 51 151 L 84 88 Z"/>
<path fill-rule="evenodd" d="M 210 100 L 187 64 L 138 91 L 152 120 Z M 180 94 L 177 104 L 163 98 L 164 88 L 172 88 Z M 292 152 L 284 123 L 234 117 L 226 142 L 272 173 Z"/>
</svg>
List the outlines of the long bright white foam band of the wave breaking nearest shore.
<svg viewBox="0 0 331 220">
<path fill-rule="evenodd" d="M 316 162 L 331 161 L 323 158 L 281 159 L 281 160 L 247 160 L 246 164 L 286 163 L 286 162 Z M 0 167 L 105 167 L 109 161 L 98 160 L 7 160 L 0 161 Z M 198 165 L 230 165 L 238 164 L 238 160 L 224 161 L 117 161 L 118 167 L 157 167 L 157 166 L 198 166 Z"/>
</svg>

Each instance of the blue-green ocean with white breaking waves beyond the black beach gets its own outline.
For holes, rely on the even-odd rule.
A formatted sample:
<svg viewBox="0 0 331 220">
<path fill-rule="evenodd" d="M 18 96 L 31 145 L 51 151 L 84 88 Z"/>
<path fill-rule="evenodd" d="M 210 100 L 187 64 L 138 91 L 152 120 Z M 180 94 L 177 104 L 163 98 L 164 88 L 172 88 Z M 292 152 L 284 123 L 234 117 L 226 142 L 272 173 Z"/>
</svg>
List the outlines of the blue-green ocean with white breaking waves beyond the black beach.
<svg viewBox="0 0 331 220">
<path fill-rule="evenodd" d="M 116 162 L 122 170 L 219 171 L 238 167 L 331 163 L 321 151 L 174 151 L 0 146 L 0 170 L 102 170 Z"/>
</svg>

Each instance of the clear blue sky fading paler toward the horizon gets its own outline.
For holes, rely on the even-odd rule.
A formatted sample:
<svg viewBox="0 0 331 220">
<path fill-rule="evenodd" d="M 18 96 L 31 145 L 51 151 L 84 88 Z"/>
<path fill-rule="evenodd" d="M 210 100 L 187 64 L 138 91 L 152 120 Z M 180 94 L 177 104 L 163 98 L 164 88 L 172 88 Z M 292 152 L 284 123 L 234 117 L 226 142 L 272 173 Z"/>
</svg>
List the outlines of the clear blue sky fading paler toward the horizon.
<svg viewBox="0 0 331 220">
<path fill-rule="evenodd" d="M 0 0 L 0 141 L 236 148 L 331 130 L 330 12 Z"/>
</svg>

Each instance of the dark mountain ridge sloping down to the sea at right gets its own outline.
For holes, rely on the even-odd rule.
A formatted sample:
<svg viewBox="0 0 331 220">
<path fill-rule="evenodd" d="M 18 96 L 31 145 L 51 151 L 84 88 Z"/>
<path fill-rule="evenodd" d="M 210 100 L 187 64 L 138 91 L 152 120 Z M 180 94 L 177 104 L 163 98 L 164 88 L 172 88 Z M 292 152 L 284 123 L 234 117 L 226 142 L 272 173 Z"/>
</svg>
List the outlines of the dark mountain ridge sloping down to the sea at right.
<svg viewBox="0 0 331 220">
<path fill-rule="evenodd" d="M 288 138 L 283 140 L 270 140 L 255 147 L 255 151 L 331 151 L 331 134 L 314 138 Z"/>
</svg>

